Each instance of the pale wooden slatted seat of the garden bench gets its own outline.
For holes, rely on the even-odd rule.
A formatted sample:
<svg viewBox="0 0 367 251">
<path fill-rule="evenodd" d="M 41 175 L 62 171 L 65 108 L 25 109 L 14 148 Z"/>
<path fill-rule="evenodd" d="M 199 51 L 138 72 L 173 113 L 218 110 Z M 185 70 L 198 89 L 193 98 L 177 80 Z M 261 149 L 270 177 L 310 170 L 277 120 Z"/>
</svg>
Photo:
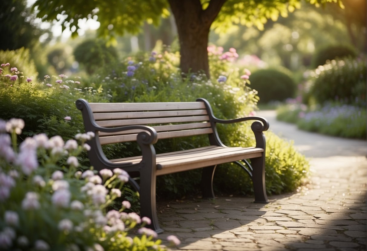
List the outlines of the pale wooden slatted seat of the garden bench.
<svg viewBox="0 0 367 251">
<path fill-rule="evenodd" d="M 192 150 L 177 151 L 172 153 L 157 154 L 156 164 L 162 169 L 157 170 L 157 175 L 165 175 L 185 171 L 188 169 L 202 168 L 205 166 L 223 164 L 226 162 L 237 161 L 261 157 L 264 152 L 262 148 L 256 147 L 221 147 L 210 146 Z M 132 162 L 141 161 L 141 156 L 115 159 L 112 162 Z"/>
</svg>

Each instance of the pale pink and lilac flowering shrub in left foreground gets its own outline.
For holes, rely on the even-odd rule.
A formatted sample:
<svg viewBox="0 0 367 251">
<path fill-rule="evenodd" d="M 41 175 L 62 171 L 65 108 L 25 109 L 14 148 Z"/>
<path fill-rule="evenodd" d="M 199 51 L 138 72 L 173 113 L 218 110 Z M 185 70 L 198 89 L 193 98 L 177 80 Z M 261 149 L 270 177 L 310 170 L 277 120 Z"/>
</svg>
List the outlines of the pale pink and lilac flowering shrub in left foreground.
<svg viewBox="0 0 367 251">
<path fill-rule="evenodd" d="M 18 147 L 24 121 L 0 120 L 0 250 L 163 250 L 150 219 L 107 207 L 121 196 L 121 169 L 78 170 L 91 132 L 66 142 L 37 134 Z M 6 132 L 10 133 L 7 134 Z M 65 165 L 60 161 L 65 159 Z M 128 232 L 140 226 L 139 236 Z M 170 243 L 178 245 L 174 236 Z"/>
</svg>

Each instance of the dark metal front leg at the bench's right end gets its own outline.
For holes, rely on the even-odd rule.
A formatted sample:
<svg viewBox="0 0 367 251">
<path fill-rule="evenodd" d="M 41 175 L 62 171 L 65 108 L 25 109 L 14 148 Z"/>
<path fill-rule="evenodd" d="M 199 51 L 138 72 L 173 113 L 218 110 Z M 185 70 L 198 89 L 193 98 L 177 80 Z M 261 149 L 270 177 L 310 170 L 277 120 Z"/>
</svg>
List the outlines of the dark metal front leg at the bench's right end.
<svg viewBox="0 0 367 251">
<path fill-rule="evenodd" d="M 268 203 L 265 189 L 265 156 L 251 159 L 252 183 L 254 185 L 255 202 Z"/>
</svg>

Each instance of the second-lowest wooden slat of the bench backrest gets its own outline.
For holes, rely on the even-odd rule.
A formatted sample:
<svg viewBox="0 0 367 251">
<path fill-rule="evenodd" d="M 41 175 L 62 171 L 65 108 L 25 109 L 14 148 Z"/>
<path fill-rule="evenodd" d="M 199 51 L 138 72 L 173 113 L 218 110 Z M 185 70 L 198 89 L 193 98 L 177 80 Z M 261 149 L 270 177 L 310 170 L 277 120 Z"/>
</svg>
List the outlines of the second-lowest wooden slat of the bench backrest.
<svg viewBox="0 0 367 251">
<path fill-rule="evenodd" d="M 178 131 L 178 130 L 187 130 L 187 129 L 198 129 L 198 128 L 208 128 L 210 127 L 209 122 L 202 123 L 189 123 L 189 124 L 177 124 L 177 125 L 168 125 L 168 126 L 154 126 L 154 129 L 157 132 L 168 132 L 168 131 Z M 117 136 L 117 135 L 127 135 L 127 134 L 137 134 L 144 130 L 126 130 L 121 132 L 99 132 L 99 137 L 103 136 Z"/>
</svg>

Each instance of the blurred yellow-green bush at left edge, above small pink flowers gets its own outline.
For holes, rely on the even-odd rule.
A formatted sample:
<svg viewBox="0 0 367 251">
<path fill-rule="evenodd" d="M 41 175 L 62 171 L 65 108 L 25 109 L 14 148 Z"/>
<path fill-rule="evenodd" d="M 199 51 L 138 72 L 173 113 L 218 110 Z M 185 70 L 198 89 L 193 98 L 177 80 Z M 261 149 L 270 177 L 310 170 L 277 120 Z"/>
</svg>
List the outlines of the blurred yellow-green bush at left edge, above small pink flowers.
<svg viewBox="0 0 367 251">
<path fill-rule="evenodd" d="M 29 49 L 23 47 L 16 50 L 0 50 L 0 62 L 9 63 L 28 74 L 27 77 L 37 79 L 38 72 L 30 57 Z"/>
</svg>

